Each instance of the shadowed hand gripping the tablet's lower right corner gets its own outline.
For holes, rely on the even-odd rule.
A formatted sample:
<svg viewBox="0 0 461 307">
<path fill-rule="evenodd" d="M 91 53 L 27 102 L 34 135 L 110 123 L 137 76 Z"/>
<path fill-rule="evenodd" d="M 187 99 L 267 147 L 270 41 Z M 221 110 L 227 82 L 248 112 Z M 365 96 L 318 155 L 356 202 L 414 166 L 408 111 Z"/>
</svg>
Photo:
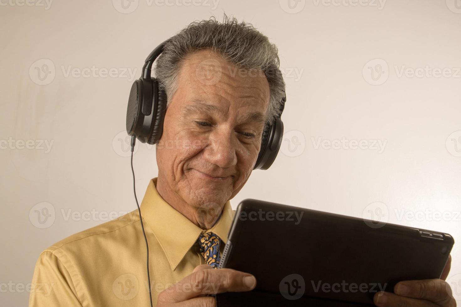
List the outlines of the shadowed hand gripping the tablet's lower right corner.
<svg viewBox="0 0 461 307">
<path fill-rule="evenodd" d="M 376 306 L 456 307 L 451 288 L 445 279 L 450 272 L 451 255 L 440 279 L 406 280 L 394 287 L 394 292 L 378 292 L 373 297 Z"/>
</svg>

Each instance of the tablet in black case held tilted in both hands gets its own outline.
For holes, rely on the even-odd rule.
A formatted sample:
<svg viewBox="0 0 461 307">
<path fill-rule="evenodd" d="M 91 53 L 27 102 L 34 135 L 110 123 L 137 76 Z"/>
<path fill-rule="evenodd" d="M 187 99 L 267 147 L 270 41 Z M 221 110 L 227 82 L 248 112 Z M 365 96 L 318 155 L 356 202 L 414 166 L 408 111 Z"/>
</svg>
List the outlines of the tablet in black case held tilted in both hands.
<svg viewBox="0 0 461 307">
<path fill-rule="evenodd" d="M 447 233 L 245 199 L 219 267 L 257 285 L 217 305 L 374 306 L 399 281 L 440 278 L 453 244 Z"/>
</svg>

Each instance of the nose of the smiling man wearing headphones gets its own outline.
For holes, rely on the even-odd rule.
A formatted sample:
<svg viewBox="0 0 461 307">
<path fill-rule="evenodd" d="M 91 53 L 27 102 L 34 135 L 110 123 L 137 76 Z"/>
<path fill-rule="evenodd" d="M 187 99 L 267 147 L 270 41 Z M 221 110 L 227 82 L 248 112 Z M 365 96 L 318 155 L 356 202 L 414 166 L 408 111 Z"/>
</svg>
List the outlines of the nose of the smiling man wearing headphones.
<svg viewBox="0 0 461 307">
<path fill-rule="evenodd" d="M 210 135 L 204 159 L 209 163 L 218 165 L 220 168 L 229 168 L 236 165 L 237 155 L 232 133 L 226 130 Z"/>
</svg>

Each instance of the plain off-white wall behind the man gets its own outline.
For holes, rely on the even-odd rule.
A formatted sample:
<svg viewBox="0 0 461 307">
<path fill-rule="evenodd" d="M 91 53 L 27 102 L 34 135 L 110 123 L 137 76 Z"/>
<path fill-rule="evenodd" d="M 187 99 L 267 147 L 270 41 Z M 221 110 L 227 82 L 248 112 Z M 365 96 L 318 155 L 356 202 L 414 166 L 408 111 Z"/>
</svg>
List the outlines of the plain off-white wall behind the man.
<svg viewBox="0 0 461 307">
<path fill-rule="evenodd" d="M 23 287 L 47 246 L 136 209 L 124 134 L 133 79 L 124 70 L 139 78 L 160 42 L 223 12 L 278 46 L 288 95 L 281 151 L 269 170 L 254 171 L 234 209 L 257 198 L 461 240 L 459 0 L 124 1 L 126 9 L 121 0 L 0 1 L 2 306 L 27 305 Z M 117 76 L 67 74 L 92 67 Z M 40 80 L 38 71 L 50 73 Z M 339 147 L 317 146 L 319 138 Z M 366 142 L 351 149 L 342 138 Z M 18 140 L 35 145 L 11 145 Z M 373 140 L 385 142 L 382 152 Z M 134 166 L 141 200 L 157 176 L 154 146 L 138 145 Z M 47 224 L 35 215 L 43 208 Z M 458 244 L 452 256 L 455 283 Z"/>
</svg>

